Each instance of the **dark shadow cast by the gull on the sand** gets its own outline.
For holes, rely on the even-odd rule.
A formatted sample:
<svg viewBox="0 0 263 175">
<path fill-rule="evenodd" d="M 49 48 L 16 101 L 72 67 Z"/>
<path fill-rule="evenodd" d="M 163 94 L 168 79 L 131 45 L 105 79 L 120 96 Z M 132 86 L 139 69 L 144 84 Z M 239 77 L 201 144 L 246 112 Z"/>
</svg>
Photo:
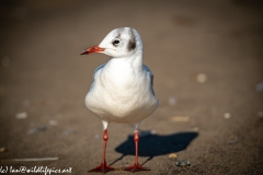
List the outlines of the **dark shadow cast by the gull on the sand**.
<svg viewBox="0 0 263 175">
<path fill-rule="evenodd" d="M 198 136 L 198 132 L 179 132 L 172 135 L 147 135 L 139 139 L 139 156 L 149 156 L 146 162 L 157 155 L 174 153 L 185 150 L 187 145 Z M 134 136 L 128 136 L 127 140 L 121 143 L 115 151 L 123 155 L 111 163 L 114 164 L 126 155 L 135 155 Z"/>
</svg>

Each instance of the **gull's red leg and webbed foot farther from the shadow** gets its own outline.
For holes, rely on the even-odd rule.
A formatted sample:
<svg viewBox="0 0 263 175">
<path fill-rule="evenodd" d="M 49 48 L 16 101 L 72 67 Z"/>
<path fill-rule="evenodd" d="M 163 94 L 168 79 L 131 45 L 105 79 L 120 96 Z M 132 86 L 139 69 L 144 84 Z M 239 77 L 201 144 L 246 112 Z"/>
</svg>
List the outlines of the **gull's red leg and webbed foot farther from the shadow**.
<svg viewBox="0 0 263 175">
<path fill-rule="evenodd" d="M 103 133 L 103 158 L 102 158 L 102 163 L 101 163 L 101 165 L 99 165 L 99 166 L 95 167 L 95 168 L 90 170 L 89 172 L 103 172 L 103 173 L 105 173 L 105 172 L 114 171 L 113 167 L 111 167 L 111 166 L 108 166 L 108 165 L 106 164 L 106 160 L 105 160 L 107 139 L 108 139 L 108 137 L 107 137 L 107 130 L 105 129 L 105 130 L 104 130 L 104 133 Z"/>
</svg>

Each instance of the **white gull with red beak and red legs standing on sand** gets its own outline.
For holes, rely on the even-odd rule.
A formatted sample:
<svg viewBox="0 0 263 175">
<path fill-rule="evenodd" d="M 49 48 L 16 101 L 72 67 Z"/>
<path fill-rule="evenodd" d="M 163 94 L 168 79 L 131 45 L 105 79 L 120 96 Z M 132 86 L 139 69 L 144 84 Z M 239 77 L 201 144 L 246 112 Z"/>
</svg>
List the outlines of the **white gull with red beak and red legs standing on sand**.
<svg viewBox="0 0 263 175">
<path fill-rule="evenodd" d="M 105 160 L 110 122 L 135 125 L 135 163 L 125 171 L 147 171 L 138 162 L 139 125 L 158 107 L 159 100 L 153 91 L 153 74 L 142 62 L 142 40 L 132 27 L 119 27 L 110 32 L 105 38 L 81 55 L 104 54 L 111 59 L 98 67 L 93 82 L 85 96 L 85 106 L 102 120 L 103 158 L 95 168 L 89 172 L 108 172 L 114 167 Z"/>
</svg>

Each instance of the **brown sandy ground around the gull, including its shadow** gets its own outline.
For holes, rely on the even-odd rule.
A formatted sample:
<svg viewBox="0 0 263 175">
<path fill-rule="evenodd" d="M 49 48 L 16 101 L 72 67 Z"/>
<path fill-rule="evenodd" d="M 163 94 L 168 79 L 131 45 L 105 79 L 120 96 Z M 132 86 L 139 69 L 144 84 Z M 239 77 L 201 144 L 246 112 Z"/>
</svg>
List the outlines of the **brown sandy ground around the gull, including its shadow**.
<svg viewBox="0 0 263 175">
<path fill-rule="evenodd" d="M 108 57 L 79 54 L 132 26 L 160 100 L 140 126 L 156 131 L 139 143 L 151 171 L 136 174 L 263 174 L 262 12 L 260 0 L 1 1 L 0 167 L 99 165 L 102 125 L 84 96 Z M 118 170 L 134 163 L 133 129 L 110 126 L 106 160 Z M 8 161 L 25 158 L 59 160 Z"/>
</svg>

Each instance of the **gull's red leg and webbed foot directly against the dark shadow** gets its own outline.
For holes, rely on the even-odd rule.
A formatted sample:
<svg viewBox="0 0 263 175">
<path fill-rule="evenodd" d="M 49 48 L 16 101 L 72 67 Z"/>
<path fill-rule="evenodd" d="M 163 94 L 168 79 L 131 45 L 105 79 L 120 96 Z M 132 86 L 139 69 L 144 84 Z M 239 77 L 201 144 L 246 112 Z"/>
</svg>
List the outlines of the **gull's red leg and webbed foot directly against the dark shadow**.
<svg viewBox="0 0 263 175">
<path fill-rule="evenodd" d="M 149 168 L 140 166 L 139 162 L 138 162 L 138 142 L 139 142 L 139 131 L 138 130 L 135 131 L 134 141 L 135 141 L 135 151 L 136 151 L 135 152 L 135 164 L 133 166 L 126 167 L 125 171 L 129 171 L 129 172 L 149 171 Z"/>
</svg>

